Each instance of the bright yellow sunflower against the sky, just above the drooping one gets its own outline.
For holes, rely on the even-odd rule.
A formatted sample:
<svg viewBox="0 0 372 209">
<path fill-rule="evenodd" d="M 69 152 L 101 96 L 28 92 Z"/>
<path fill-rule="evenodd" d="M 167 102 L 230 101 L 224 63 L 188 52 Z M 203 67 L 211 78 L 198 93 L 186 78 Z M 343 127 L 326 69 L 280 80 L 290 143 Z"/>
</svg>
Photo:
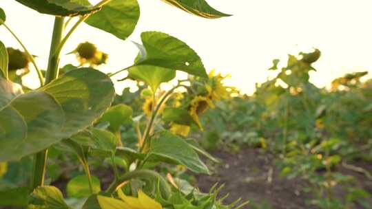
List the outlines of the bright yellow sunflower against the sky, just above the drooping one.
<svg viewBox="0 0 372 209">
<path fill-rule="evenodd" d="M 225 78 L 229 78 L 229 75 L 227 76 L 221 76 L 221 74 L 215 75 L 215 70 L 212 69 L 211 72 L 209 72 L 208 76 L 210 82 L 205 85 L 205 89 L 207 89 L 208 96 L 211 97 L 212 100 L 216 101 L 229 98 L 229 91 L 227 91 L 227 87 L 223 85 L 223 80 Z"/>
</svg>

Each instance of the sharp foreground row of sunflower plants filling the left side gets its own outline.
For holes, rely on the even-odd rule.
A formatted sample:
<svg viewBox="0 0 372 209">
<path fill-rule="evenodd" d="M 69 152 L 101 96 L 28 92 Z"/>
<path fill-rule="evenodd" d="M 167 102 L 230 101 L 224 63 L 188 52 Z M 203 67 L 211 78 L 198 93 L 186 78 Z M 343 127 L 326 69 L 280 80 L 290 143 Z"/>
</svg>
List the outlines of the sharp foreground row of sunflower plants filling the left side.
<svg viewBox="0 0 372 209">
<path fill-rule="evenodd" d="M 169 34 L 143 32 L 142 43 L 134 43 L 138 56 L 130 67 L 103 74 L 97 68 L 108 55 L 91 43 L 71 52 L 80 66 L 60 67 L 63 45 L 81 23 L 125 41 L 140 17 L 137 1 L 16 1 L 54 15 L 55 21 L 43 69 L 0 9 L 0 26 L 22 47 L 0 42 L 0 206 L 180 209 L 247 204 L 224 204 L 225 197 L 218 195 L 223 186 L 203 193 L 172 175 L 172 169 L 209 173 L 199 155 L 216 159 L 186 136 L 192 127 L 203 129 L 199 115 L 230 91 L 220 75 L 207 75 L 194 50 Z M 165 2 L 208 19 L 229 16 L 204 0 Z M 22 83 L 30 70 L 38 74 L 38 89 Z M 160 89 L 174 80 L 176 71 L 189 78 L 168 91 Z M 126 75 L 123 82 L 137 80 L 141 91 L 115 96 L 111 78 L 116 74 Z"/>
</svg>

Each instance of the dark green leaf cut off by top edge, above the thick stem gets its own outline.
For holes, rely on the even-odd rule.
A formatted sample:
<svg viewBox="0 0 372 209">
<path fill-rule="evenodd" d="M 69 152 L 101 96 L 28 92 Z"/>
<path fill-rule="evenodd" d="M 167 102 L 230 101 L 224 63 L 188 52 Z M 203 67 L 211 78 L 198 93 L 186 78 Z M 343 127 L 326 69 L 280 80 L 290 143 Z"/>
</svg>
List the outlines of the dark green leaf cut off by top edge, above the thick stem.
<svg viewBox="0 0 372 209">
<path fill-rule="evenodd" d="M 43 14 L 52 14 L 56 16 L 77 16 L 88 14 L 99 10 L 90 5 L 85 0 L 16 0 L 19 3 L 37 10 Z M 88 4 L 88 3 L 89 4 Z"/>
</svg>

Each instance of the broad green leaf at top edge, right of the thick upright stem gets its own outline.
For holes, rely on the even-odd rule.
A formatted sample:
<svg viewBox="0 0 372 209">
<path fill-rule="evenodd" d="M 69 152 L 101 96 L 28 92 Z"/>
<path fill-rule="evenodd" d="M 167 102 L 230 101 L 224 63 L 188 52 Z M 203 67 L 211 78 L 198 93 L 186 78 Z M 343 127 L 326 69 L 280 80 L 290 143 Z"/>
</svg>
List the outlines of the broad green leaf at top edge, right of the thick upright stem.
<svg viewBox="0 0 372 209">
<path fill-rule="evenodd" d="M 99 12 L 92 14 L 85 23 L 125 40 L 134 31 L 139 16 L 140 9 L 136 0 L 112 0 L 103 5 Z"/>
</svg>

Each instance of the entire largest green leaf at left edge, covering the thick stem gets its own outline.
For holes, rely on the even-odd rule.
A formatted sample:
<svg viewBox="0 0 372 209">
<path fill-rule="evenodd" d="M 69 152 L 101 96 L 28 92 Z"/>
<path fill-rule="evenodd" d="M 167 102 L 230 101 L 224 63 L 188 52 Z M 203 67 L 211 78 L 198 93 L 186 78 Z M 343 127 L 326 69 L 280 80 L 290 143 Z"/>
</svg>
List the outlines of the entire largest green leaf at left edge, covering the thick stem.
<svg viewBox="0 0 372 209">
<path fill-rule="evenodd" d="M 73 70 L 27 94 L 15 94 L 9 81 L 1 83 L 6 85 L 0 85 L 0 162 L 36 153 L 85 129 L 114 97 L 110 78 L 93 69 Z"/>
</svg>

